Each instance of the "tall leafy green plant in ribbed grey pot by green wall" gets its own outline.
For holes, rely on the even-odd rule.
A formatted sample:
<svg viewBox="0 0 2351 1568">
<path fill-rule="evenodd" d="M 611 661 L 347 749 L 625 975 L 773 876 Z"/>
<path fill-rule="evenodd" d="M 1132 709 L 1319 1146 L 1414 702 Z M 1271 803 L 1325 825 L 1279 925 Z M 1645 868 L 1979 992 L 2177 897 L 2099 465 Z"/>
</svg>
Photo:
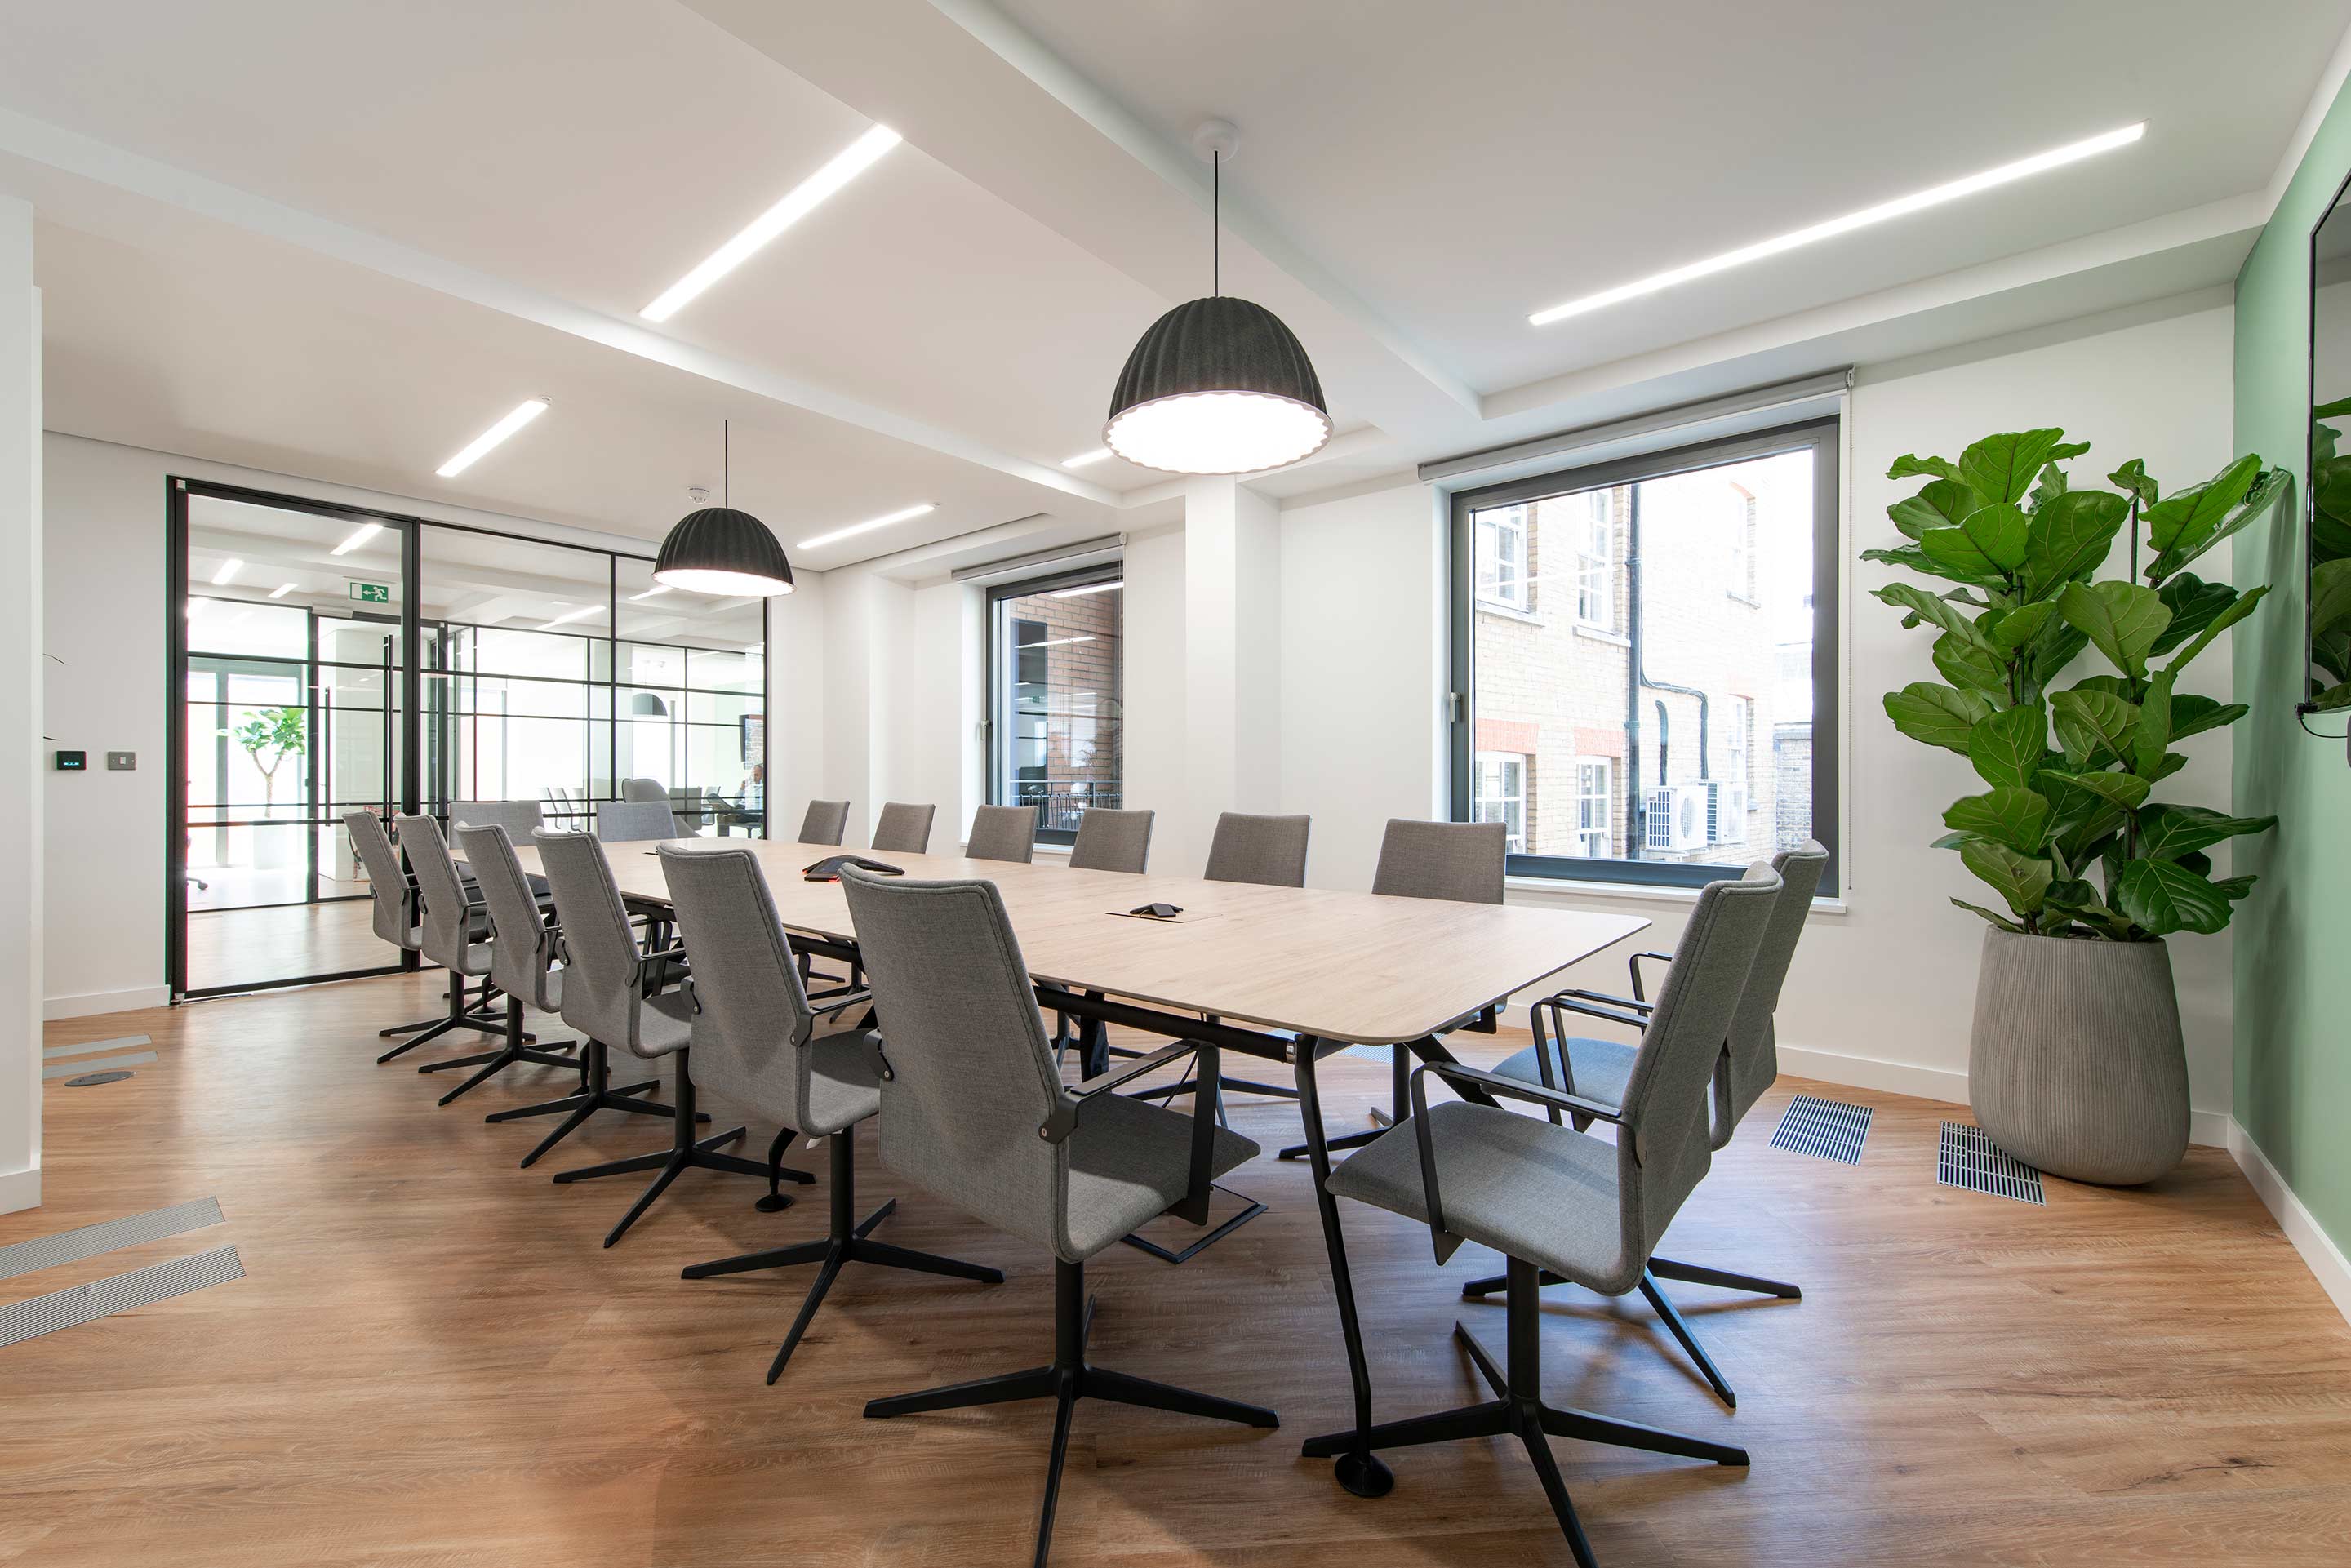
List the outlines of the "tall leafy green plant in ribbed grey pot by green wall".
<svg viewBox="0 0 2351 1568">
<path fill-rule="evenodd" d="M 1902 625 L 1935 630 L 1942 675 L 1886 693 L 1886 715 L 1965 757 L 1984 785 L 1942 813 L 1937 839 L 2001 905 L 1951 900 L 1989 922 L 1968 1051 L 1975 1117 L 2041 1171 L 2130 1185 L 2177 1166 L 2189 1138 L 2163 943 L 2229 924 L 2252 877 L 2212 877 L 2205 851 L 2278 820 L 2158 799 L 2186 766 L 2175 743 L 2245 715 L 2179 691 L 2182 670 L 2269 592 L 2186 567 L 2273 505 L 2288 477 L 2243 456 L 2161 496 L 2132 458 L 2106 475 L 2116 489 L 2074 489 L 2064 463 L 2088 449 L 2064 430 L 2020 430 L 1956 463 L 1897 458 L 1890 480 L 1928 484 L 1888 508 L 1904 543 L 1862 559 L 1951 583 L 1874 592 Z M 2130 576 L 2095 581 L 2118 534 Z M 2062 684 L 2088 649 L 2106 670 Z"/>
</svg>

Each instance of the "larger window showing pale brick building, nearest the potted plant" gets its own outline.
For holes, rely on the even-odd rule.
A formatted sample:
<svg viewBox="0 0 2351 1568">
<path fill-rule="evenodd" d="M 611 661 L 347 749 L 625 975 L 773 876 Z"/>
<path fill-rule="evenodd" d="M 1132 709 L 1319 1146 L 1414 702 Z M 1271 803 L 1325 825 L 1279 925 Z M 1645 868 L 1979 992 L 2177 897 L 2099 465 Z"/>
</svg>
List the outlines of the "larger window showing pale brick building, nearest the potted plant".
<svg viewBox="0 0 2351 1568">
<path fill-rule="evenodd" d="M 1836 515 L 1834 418 L 1458 494 L 1453 816 L 1538 877 L 1834 853 Z"/>
</svg>

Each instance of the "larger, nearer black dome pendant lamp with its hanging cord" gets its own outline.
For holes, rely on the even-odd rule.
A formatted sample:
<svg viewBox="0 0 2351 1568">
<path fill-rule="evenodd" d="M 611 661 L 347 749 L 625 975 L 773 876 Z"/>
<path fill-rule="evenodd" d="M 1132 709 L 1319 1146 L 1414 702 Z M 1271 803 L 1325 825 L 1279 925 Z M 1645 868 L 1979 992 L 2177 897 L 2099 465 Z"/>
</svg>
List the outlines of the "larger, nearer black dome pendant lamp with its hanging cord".
<svg viewBox="0 0 2351 1568">
<path fill-rule="evenodd" d="M 1215 228 L 1232 125 L 1208 120 L 1192 143 L 1213 162 L 1211 294 L 1161 315 L 1126 355 L 1110 395 L 1103 444 L 1128 463 L 1164 473 L 1281 468 L 1331 440 L 1331 409 L 1298 334 L 1265 306 L 1220 292 Z"/>
</svg>

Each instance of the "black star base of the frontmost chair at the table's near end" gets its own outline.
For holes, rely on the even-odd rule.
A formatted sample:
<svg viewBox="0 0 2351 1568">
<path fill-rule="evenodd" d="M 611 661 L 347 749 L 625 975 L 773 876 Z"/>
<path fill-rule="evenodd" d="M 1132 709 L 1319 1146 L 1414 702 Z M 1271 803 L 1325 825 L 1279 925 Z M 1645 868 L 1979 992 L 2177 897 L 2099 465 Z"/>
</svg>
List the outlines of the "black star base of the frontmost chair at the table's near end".
<svg viewBox="0 0 2351 1568">
<path fill-rule="evenodd" d="M 1568 1552 L 1575 1554 L 1575 1561 L 1582 1568 L 1596 1568 L 1592 1542 L 1585 1540 L 1585 1526 L 1575 1516 L 1575 1502 L 1568 1497 L 1568 1483 L 1559 1474 L 1559 1460 L 1552 1458 L 1549 1439 L 1568 1436 L 1587 1443 L 1606 1443 L 1610 1448 L 1641 1448 L 1646 1453 L 1672 1453 L 1686 1460 L 1747 1465 L 1747 1450 L 1733 1448 L 1730 1443 L 1709 1443 L 1679 1432 L 1643 1427 L 1641 1422 L 1613 1420 L 1589 1410 L 1561 1410 L 1542 1403 L 1542 1324 L 1535 1293 L 1535 1265 L 1512 1258 L 1507 1371 L 1495 1363 L 1483 1345 L 1476 1342 L 1476 1335 L 1472 1335 L 1462 1324 L 1453 1324 L 1453 1338 L 1469 1352 L 1469 1359 L 1476 1363 L 1486 1387 L 1495 1394 L 1491 1401 L 1462 1406 L 1458 1410 L 1439 1410 L 1436 1415 L 1413 1415 L 1408 1420 L 1380 1422 L 1364 1429 L 1349 1427 L 1345 1432 L 1331 1432 L 1326 1436 L 1307 1439 L 1300 1453 L 1310 1460 L 1340 1458 L 1345 1462 L 1347 1455 L 1368 1458 L 1373 1448 L 1453 1443 L 1472 1436 L 1516 1436 L 1526 1448 L 1528 1462 L 1535 1467 L 1535 1476 L 1542 1481 L 1542 1493 L 1552 1502 L 1552 1514 L 1559 1519 L 1561 1535 L 1568 1537 Z"/>
</svg>

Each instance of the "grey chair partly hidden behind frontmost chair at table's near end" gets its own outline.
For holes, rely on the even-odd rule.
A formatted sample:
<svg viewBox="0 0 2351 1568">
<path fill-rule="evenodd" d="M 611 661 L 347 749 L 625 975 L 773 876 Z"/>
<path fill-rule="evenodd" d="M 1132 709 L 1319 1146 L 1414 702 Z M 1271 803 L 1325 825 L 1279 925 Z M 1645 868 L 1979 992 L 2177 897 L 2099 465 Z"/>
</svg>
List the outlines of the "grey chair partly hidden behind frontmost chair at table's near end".
<svg viewBox="0 0 2351 1568">
<path fill-rule="evenodd" d="M 1773 1030 L 1773 1013 L 1780 1009 L 1780 990 L 1787 985 L 1789 964 L 1796 959 L 1796 943 L 1803 938 L 1803 919 L 1813 912 L 1813 893 L 1820 889 L 1820 875 L 1829 865 L 1829 851 L 1817 842 L 1806 839 L 1799 849 L 1780 851 L 1770 863 L 1773 870 L 1780 872 L 1780 903 L 1773 905 L 1770 926 L 1763 931 L 1763 945 L 1756 950 L 1754 971 L 1747 976 L 1747 990 L 1740 994 L 1740 1011 L 1730 1016 L 1730 1034 L 1723 1039 L 1721 1058 L 1714 1063 L 1712 1143 L 1716 1150 L 1730 1143 L 1730 1133 L 1737 1124 L 1780 1079 L 1780 1046 Z M 1641 1060 L 1641 1046 L 1629 1046 L 1615 1039 L 1570 1037 L 1568 1013 L 1606 1018 L 1608 1023 L 1622 1023 L 1646 1032 L 1648 1016 L 1655 1009 L 1643 997 L 1641 959 L 1667 957 L 1669 954 L 1662 952 L 1632 954 L 1632 997 L 1568 990 L 1538 1001 L 1531 1016 L 1535 1044 L 1505 1058 L 1495 1072 L 1528 1084 L 1542 1084 L 1547 1088 L 1563 1088 L 1573 1095 L 1582 1095 L 1585 1100 L 1599 1100 L 1601 1105 L 1620 1105 L 1625 1100 L 1625 1086 L 1632 1081 L 1632 1070 Z M 1681 1312 L 1674 1309 L 1674 1302 L 1667 1300 L 1662 1288 L 1657 1288 L 1657 1279 L 1681 1279 L 1686 1284 L 1719 1286 L 1723 1291 L 1777 1295 L 1780 1300 L 1803 1300 L 1803 1291 L 1787 1281 L 1761 1279 L 1756 1274 L 1730 1274 L 1726 1269 L 1676 1262 L 1672 1258 L 1648 1260 L 1648 1269 L 1641 1274 L 1641 1295 L 1648 1298 L 1650 1309 L 1690 1354 L 1697 1371 L 1704 1373 L 1716 1399 L 1737 1408 L 1737 1392 L 1733 1392 L 1721 1368 L 1714 1366 L 1714 1356 L 1707 1354 L 1707 1347 L 1697 1342 L 1695 1333 L 1690 1333 L 1690 1326 L 1681 1319 Z M 1545 1276 L 1542 1284 L 1561 1281 Z M 1491 1295 L 1500 1288 L 1505 1288 L 1505 1276 L 1488 1274 L 1486 1279 L 1472 1279 L 1465 1284 L 1462 1298 L 1472 1300 Z"/>
</svg>

